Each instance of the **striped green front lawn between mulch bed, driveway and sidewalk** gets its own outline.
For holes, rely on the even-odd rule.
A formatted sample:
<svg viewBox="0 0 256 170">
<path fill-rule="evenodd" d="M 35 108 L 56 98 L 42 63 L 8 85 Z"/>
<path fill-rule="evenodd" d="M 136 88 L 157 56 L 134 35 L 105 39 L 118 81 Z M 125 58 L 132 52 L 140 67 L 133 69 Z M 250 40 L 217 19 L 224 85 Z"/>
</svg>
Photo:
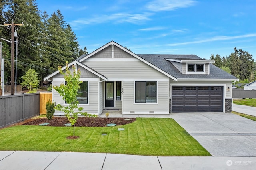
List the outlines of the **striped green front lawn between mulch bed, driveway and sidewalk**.
<svg viewBox="0 0 256 170">
<path fill-rule="evenodd" d="M 118 131 L 124 128 L 124 131 Z M 103 136 L 102 133 L 106 133 Z M 65 151 L 152 156 L 210 156 L 176 121 L 137 118 L 116 127 L 14 126 L 0 130 L 0 150 Z"/>
</svg>

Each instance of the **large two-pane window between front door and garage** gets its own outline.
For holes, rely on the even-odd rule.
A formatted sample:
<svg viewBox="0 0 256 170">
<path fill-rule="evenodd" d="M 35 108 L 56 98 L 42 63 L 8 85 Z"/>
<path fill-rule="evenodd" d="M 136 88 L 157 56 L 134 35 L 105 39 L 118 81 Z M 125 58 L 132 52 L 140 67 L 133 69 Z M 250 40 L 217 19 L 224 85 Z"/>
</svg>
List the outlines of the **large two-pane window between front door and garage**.
<svg viewBox="0 0 256 170">
<path fill-rule="evenodd" d="M 156 81 L 135 82 L 135 103 L 156 103 Z"/>
</svg>

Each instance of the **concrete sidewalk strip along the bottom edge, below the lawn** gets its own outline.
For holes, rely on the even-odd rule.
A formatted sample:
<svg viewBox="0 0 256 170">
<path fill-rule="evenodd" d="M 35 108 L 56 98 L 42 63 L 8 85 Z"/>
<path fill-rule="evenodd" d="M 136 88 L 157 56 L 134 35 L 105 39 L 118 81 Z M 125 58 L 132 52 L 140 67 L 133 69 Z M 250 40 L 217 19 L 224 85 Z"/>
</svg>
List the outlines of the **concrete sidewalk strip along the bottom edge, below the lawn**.
<svg viewBox="0 0 256 170">
<path fill-rule="evenodd" d="M 1 170 L 255 170 L 255 157 L 0 151 Z"/>
</svg>

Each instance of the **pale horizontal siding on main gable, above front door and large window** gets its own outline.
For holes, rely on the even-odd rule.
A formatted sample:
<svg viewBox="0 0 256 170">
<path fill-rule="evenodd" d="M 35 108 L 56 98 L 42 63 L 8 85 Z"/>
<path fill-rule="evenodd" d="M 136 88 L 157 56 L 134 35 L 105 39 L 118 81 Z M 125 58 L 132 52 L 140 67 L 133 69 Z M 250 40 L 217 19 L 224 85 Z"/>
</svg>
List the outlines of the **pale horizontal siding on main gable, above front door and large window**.
<svg viewBox="0 0 256 170">
<path fill-rule="evenodd" d="M 110 59 L 111 60 L 111 59 Z M 84 64 L 101 73 L 108 79 L 124 78 L 166 78 L 167 76 L 160 73 L 143 63 L 142 61 L 85 61 Z"/>
</svg>

